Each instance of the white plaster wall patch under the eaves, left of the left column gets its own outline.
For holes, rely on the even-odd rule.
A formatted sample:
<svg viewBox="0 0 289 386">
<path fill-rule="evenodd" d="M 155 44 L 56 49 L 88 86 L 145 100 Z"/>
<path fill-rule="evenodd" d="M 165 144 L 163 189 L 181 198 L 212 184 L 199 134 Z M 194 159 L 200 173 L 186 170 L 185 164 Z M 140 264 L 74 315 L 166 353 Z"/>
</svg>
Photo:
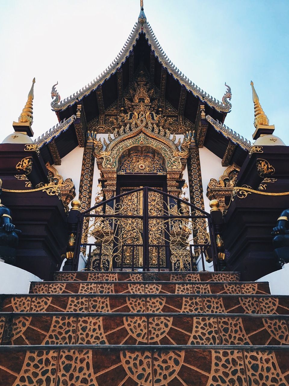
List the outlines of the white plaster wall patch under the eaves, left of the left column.
<svg viewBox="0 0 289 386">
<path fill-rule="evenodd" d="M 75 198 L 79 196 L 79 183 L 81 177 L 82 158 L 84 147 L 77 146 L 61 159 L 61 165 L 53 165 L 63 179 L 71 178 L 75 186 Z"/>
</svg>

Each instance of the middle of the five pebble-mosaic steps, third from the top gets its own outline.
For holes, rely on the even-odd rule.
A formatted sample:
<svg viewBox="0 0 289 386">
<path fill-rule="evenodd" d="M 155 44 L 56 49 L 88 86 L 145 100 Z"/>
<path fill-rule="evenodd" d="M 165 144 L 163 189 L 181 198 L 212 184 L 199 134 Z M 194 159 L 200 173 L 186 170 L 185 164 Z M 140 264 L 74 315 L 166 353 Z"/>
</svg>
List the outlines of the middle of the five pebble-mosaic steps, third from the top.
<svg viewBox="0 0 289 386">
<path fill-rule="evenodd" d="M 269 295 L 2 295 L 2 312 L 157 312 L 289 315 L 289 296 Z"/>
</svg>

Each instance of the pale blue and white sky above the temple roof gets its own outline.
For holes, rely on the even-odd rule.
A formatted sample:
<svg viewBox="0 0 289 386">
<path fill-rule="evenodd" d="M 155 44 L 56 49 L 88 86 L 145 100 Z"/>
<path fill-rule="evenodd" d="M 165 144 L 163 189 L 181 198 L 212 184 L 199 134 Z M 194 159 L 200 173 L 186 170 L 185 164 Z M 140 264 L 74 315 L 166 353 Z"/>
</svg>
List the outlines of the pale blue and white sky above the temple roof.
<svg viewBox="0 0 289 386">
<path fill-rule="evenodd" d="M 252 141 L 250 81 L 289 145 L 288 0 L 144 0 L 144 12 L 168 57 L 218 100 L 226 82 L 232 111 L 225 124 Z M 96 78 L 114 60 L 139 15 L 139 0 L 0 0 L 2 132 L 13 132 L 34 86 L 34 138 L 58 120 L 50 107 Z"/>
</svg>

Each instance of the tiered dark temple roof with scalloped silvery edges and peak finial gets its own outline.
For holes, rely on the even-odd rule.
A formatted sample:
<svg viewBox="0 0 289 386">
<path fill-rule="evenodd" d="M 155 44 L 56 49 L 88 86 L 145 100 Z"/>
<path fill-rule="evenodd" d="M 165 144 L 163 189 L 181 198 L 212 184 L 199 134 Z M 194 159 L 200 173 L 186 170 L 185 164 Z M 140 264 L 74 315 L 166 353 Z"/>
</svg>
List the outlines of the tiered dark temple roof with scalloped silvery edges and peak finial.
<svg viewBox="0 0 289 386">
<path fill-rule="evenodd" d="M 127 98 L 140 84 L 153 93 L 165 129 L 172 134 L 195 130 L 198 146 L 220 157 L 223 166 L 232 162 L 241 166 L 250 150 L 250 141 L 223 124 L 232 107 L 230 87 L 225 83 L 227 90 L 219 102 L 181 73 L 156 39 L 142 1 L 138 21 L 108 68 L 64 100 L 57 84 L 52 87 L 51 107 L 60 123 L 35 141 L 50 164 L 61 162 L 76 146 L 83 147 L 90 130 L 113 133 Z"/>
</svg>

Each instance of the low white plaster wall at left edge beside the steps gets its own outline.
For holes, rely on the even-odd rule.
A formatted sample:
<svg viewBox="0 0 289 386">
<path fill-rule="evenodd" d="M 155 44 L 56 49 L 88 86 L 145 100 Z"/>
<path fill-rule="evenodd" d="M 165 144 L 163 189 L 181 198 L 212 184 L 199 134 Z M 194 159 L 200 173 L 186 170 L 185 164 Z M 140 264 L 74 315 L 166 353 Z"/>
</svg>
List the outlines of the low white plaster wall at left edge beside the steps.
<svg viewBox="0 0 289 386">
<path fill-rule="evenodd" d="M 31 281 L 42 281 L 24 269 L 0 262 L 0 293 L 29 293 Z"/>
</svg>

